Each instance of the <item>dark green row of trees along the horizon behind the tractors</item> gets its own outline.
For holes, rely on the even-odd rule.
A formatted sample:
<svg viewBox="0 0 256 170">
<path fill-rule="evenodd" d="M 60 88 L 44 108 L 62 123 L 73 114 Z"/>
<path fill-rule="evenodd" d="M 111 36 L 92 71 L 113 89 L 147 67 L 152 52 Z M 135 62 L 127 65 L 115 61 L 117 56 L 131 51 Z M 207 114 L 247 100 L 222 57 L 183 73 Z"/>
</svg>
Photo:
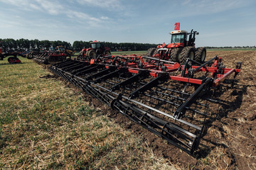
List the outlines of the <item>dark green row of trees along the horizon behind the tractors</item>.
<svg viewBox="0 0 256 170">
<path fill-rule="evenodd" d="M 1 39 L 0 38 L 0 47 L 6 51 L 17 51 L 23 52 L 28 50 L 48 50 L 49 47 L 64 46 L 68 50 L 80 51 L 82 48 L 90 47 L 91 41 L 75 41 L 73 45 L 70 42 L 66 41 L 50 41 L 50 40 L 28 40 L 28 39 L 18 39 L 14 40 L 12 38 Z M 148 50 L 150 47 L 156 47 L 157 44 L 149 43 L 134 43 L 134 42 L 102 42 L 105 47 L 110 47 L 112 50 Z"/>
</svg>

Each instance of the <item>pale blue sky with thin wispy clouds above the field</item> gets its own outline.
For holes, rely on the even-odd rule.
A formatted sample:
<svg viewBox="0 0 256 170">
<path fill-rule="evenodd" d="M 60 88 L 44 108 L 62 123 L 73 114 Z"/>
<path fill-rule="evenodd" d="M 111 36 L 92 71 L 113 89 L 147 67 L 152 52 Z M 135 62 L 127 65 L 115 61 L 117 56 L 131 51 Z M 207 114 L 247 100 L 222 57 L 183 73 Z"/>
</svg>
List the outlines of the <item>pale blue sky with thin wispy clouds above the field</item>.
<svg viewBox="0 0 256 170">
<path fill-rule="evenodd" d="M 256 45 L 255 0 L 0 0 L 0 38 L 169 43 L 174 23 L 196 46 Z"/>
</svg>

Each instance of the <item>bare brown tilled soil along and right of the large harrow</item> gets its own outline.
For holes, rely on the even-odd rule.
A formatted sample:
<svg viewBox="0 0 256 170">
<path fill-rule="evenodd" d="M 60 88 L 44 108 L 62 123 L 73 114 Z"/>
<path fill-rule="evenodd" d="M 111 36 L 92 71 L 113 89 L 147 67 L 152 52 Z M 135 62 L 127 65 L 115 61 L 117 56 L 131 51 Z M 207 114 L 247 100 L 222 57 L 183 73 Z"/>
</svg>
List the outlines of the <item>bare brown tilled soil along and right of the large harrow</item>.
<svg viewBox="0 0 256 170">
<path fill-rule="evenodd" d="M 236 62 L 242 62 L 242 71 L 236 77 L 234 88 L 223 84 L 215 94 L 222 104 L 214 106 L 215 113 L 208 113 L 201 149 L 193 156 L 169 145 L 116 111 L 102 107 L 97 99 L 87 94 L 85 97 L 116 123 L 142 135 L 145 145 L 151 147 L 154 154 L 169 159 L 177 169 L 256 169 L 256 51 L 207 52 L 206 60 L 215 55 L 223 58 L 226 68 L 235 68 Z"/>
</svg>

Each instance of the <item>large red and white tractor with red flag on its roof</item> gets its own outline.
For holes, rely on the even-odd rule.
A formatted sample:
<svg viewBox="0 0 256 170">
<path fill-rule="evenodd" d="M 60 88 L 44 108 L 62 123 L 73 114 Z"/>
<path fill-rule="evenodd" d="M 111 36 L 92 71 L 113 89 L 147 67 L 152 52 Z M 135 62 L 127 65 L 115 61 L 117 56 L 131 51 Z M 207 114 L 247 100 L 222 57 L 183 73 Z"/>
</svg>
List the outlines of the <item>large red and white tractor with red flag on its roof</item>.
<svg viewBox="0 0 256 170">
<path fill-rule="evenodd" d="M 178 25 L 178 26 L 176 26 Z M 175 24 L 175 30 L 171 31 L 171 43 L 158 45 L 156 48 L 149 48 L 146 55 L 159 57 L 162 60 L 184 64 L 187 58 L 203 63 L 206 59 L 206 47 L 195 47 L 197 31 L 179 30 L 179 23 Z"/>
</svg>

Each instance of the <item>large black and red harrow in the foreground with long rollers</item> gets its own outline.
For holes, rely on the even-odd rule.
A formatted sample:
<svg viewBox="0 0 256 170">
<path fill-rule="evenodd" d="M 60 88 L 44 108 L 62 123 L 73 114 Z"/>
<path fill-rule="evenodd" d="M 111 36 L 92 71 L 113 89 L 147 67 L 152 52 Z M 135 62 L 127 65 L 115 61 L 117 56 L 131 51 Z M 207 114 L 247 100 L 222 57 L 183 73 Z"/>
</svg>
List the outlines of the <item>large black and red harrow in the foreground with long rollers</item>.
<svg viewBox="0 0 256 170">
<path fill-rule="evenodd" d="M 199 64 L 199 65 L 196 65 Z M 119 111 L 135 123 L 193 154 L 203 136 L 211 89 L 231 74 L 220 57 L 204 64 L 188 59 L 185 64 L 154 57 L 108 56 L 90 62 L 66 60 L 50 66 L 87 94 Z"/>
</svg>

